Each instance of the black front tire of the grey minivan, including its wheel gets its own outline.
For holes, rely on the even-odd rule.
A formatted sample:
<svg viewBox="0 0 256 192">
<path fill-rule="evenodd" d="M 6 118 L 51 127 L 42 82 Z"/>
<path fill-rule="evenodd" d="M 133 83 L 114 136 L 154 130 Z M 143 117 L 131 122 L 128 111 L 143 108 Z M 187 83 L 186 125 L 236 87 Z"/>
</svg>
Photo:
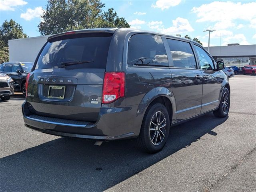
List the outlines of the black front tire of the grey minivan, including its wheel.
<svg viewBox="0 0 256 192">
<path fill-rule="evenodd" d="M 228 98 L 226 98 L 226 96 L 228 96 Z M 228 115 L 229 108 L 230 108 L 230 93 L 228 91 L 228 88 L 225 87 L 222 92 L 219 107 L 216 111 L 213 112 L 213 114 L 216 117 L 226 117 Z"/>
</svg>

